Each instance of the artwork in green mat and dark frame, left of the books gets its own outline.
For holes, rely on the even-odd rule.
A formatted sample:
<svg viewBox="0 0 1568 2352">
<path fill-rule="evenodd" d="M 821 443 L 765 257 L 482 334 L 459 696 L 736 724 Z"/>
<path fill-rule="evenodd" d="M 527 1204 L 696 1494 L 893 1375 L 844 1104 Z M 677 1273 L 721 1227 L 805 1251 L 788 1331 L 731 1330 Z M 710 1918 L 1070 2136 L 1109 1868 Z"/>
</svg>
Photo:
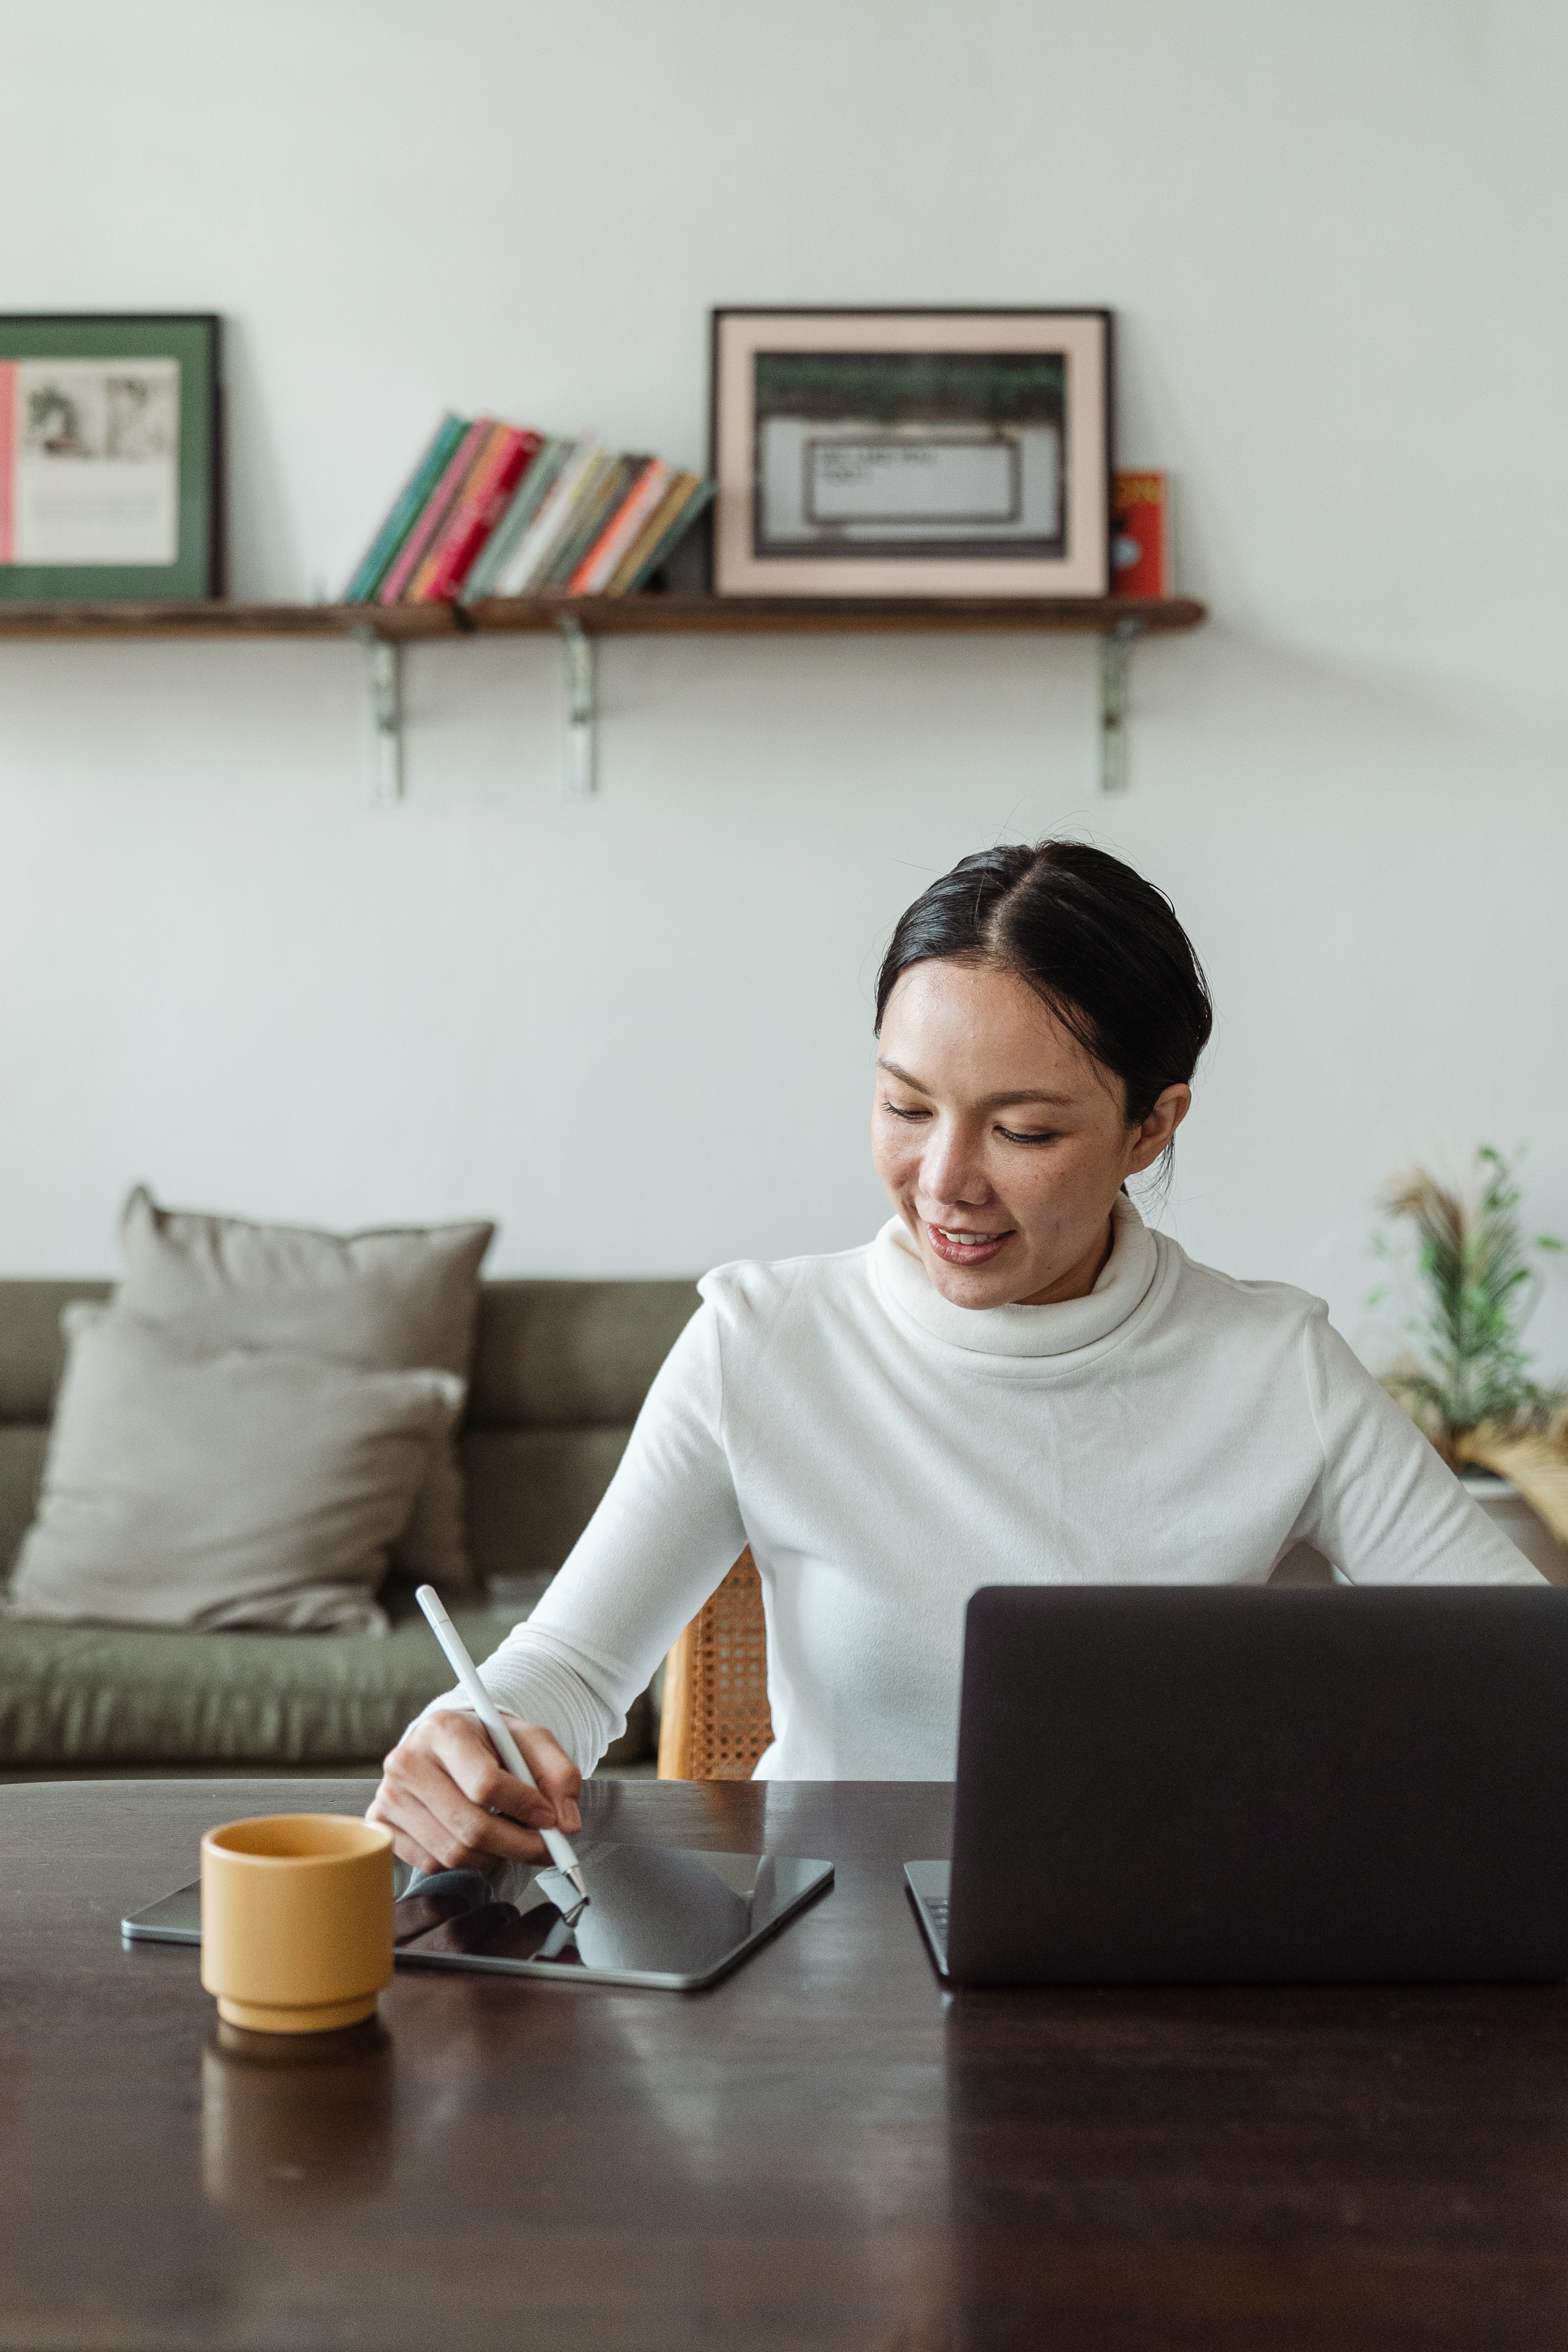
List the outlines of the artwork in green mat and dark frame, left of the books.
<svg viewBox="0 0 1568 2352">
<path fill-rule="evenodd" d="M 0 313 L 0 597 L 221 595 L 219 320 Z"/>
</svg>

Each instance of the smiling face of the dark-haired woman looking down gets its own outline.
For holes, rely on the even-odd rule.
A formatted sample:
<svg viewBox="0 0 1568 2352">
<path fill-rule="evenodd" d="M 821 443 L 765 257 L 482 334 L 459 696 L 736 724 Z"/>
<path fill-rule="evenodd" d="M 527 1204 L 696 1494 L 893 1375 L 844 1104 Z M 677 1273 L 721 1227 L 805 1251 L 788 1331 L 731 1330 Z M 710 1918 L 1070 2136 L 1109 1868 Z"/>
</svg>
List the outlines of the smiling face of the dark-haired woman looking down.
<svg viewBox="0 0 1568 2352">
<path fill-rule="evenodd" d="M 872 1157 L 957 1308 L 1086 1298 L 1126 1176 L 1187 1117 L 1166 1087 L 1128 1127 L 1121 1080 L 997 964 L 910 964 L 882 1021 Z"/>
</svg>

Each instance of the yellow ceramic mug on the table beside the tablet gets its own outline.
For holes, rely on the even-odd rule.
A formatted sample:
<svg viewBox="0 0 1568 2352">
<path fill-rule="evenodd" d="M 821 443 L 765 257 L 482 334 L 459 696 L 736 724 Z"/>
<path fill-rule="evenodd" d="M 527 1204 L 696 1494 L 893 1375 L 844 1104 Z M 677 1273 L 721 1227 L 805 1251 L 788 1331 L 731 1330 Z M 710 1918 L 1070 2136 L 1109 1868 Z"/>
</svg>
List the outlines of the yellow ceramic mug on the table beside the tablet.
<svg viewBox="0 0 1568 2352">
<path fill-rule="evenodd" d="M 324 2034 L 393 1983 L 393 1835 L 268 1813 L 202 1839 L 202 1983 L 256 2034 Z"/>
</svg>

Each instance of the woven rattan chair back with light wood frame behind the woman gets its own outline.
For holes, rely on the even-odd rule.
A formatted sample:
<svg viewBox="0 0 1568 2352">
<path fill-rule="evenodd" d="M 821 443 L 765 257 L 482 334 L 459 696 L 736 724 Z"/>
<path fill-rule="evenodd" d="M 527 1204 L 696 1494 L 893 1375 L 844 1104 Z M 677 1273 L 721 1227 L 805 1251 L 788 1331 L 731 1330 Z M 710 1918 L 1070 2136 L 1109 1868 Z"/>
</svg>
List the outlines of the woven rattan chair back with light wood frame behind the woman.
<svg viewBox="0 0 1568 2352">
<path fill-rule="evenodd" d="M 665 1658 L 661 1780 L 750 1780 L 773 1740 L 762 1578 L 750 1550 Z"/>
</svg>

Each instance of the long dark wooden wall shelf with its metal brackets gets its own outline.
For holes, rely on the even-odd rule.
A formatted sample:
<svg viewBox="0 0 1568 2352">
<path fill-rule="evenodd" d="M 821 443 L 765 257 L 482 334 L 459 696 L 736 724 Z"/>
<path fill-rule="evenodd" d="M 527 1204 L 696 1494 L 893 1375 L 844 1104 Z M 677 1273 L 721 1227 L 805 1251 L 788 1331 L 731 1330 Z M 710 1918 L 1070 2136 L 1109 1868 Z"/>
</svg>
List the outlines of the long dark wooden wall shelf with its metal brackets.
<svg viewBox="0 0 1568 2352">
<path fill-rule="evenodd" d="M 374 800 L 402 797 L 404 644 L 559 635 L 567 649 L 567 790 L 595 788 L 595 637 L 1091 635 L 1100 640 L 1100 788 L 1126 783 L 1126 654 L 1143 635 L 1197 628 L 1194 597 L 487 597 L 480 604 L 7 604 L 0 642 L 118 644 L 158 637 L 357 640 L 369 659 Z"/>
</svg>

